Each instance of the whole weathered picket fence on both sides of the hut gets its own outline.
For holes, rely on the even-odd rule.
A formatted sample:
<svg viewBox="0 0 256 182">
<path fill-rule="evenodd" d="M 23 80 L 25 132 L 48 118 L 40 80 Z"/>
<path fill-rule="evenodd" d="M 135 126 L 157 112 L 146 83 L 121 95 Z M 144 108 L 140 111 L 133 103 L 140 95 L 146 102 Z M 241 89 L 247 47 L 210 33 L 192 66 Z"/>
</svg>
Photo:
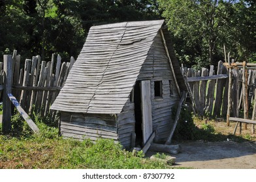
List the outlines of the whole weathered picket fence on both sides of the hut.
<svg viewBox="0 0 256 182">
<path fill-rule="evenodd" d="M 10 123 L 4 123 L 4 120 L 10 120 L 11 110 L 5 109 L 10 107 L 10 100 L 16 108 L 18 106 L 28 114 L 35 112 L 52 119 L 56 116 L 56 112 L 50 110 L 50 105 L 63 87 L 75 60 L 71 57 L 70 62 L 61 63 L 59 55 L 55 58 L 53 54 L 52 60 L 48 62 L 41 60 L 40 56 L 25 59 L 23 67 L 17 51 L 14 51 L 13 55 L 4 55 L 4 62 L 0 62 L 0 96 L 3 95 L 3 101 L 8 99 L 9 102 L 6 102 L 3 108 L 4 115 L 8 116 L 3 118 L 3 131 L 10 129 Z M 7 64 L 8 62 L 11 64 Z M 182 67 L 194 112 L 199 116 L 228 116 L 229 124 L 230 117 L 238 122 L 238 119 L 234 118 L 238 118 L 239 110 L 245 108 L 244 120 L 240 120 L 240 123 L 248 121 L 249 110 L 252 113 L 252 122 L 247 123 L 254 123 L 256 68 L 251 66 L 256 64 L 245 64 L 243 67 L 243 64 L 234 66 L 234 60 L 232 62 L 231 69 L 230 64 L 219 61 L 217 71 L 214 66 L 210 66 L 210 70 L 202 68 L 197 72 Z M 6 79 L 7 77 L 11 79 Z M 3 92 L 4 87 L 9 95 Z M 254 133 L 254 125 L 251 130 Z"/>
</svg>

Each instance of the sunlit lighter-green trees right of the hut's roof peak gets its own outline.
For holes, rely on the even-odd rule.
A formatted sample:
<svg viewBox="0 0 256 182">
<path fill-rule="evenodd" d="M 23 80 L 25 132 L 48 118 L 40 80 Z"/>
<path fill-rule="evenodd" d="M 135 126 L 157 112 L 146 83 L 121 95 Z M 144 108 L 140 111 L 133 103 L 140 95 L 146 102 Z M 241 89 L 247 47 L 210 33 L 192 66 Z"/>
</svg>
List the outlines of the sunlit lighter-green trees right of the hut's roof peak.
<svg viewBox="0 0 256 182">
<path fill-rule="evenodd" d="M 254 1 L 159 0 L 159 5 L 176 53 L 189 66 L 217 64 L 223 45 L 236 59 L 255 55 Z"/>
</svg>

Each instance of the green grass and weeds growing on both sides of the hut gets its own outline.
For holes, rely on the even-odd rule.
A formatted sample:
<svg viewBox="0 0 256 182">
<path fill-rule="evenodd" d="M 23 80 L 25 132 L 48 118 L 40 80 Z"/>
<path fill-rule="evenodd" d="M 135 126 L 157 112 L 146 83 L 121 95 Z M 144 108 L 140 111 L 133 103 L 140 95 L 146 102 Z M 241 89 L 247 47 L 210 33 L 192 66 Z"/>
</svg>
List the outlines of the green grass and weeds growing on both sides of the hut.
<svg viewBox="0 0 256 182">
<path fill-rule="evenodd" d="M 181 118 L 185 122 L 180 122 L 177 127 L 177 140 L 181 136 L 186 136 L 182 140 L 219 141 L 229 138 L 238 142 L 255 138 L 252 135 L 230 135 L 231 127 L 221 133 L 225 123 L 191 118 L 184 111 Z M 42 120 L 35 114 L 31 118 L 40 129 L 37 135 L 31 132 L 19 114 L 12 116 L 10 135 L 3 135 L 0 130 L 0 168 L 172 168 L 163 162 L 145 158 L 142 152 L 125 151 L 114 140 L 99 138 L 92 142 L 59 137 L 57 127 L 44 123 L 49 124 L 48 120 Z M 156 156 L 160 159 L 166 157 L 163 153 Z"/>
</svg>

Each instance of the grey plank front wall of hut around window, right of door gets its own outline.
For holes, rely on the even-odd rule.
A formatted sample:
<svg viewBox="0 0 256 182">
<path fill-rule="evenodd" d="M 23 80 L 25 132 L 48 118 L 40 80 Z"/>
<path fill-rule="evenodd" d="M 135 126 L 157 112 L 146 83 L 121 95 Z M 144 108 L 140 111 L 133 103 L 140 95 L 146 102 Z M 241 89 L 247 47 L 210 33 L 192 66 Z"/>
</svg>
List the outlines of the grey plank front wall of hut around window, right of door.
<svg viewBox="0 0 256 182">
<path fill-rule="evenodd" d="M 157 131 L 155 142 L 165 141 L 174 122 L 172 107 L 180 100 L 180 96 L 174 83 L 174 77 L 159 32 L 155 36 L 148 57 L 138 76 L 138 81 L 148 79 L 151 80 L 153 131 Z M 162 98 L 155 98 L 155 81 L 162 82 Z"/>
</svg>

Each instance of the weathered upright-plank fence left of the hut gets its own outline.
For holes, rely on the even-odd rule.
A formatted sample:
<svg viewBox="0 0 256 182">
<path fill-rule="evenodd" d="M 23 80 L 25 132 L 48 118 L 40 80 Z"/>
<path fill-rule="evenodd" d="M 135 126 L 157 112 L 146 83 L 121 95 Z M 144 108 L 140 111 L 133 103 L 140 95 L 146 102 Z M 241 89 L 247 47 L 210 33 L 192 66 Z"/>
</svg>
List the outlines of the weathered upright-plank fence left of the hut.
<svg viewBox="0 0 256 182">
<path fill-rule="evenodd" d="M 75 60 L 71 57 L 71 62 L 61 63 L 61 57 L 57 55 L 57 60 L 55 57 L 52 54 L 52 60 L 48 62 L 41 60 L 40 56 L 25 59 L 23 67 L 16 50 L 13 55 L 4 55 L 4 62 L 0 62 L 0 90 L 5 87 L 4 92 L 1 92 L 4 102 L 3 131 L 10 130 L 11 110 L 6 109 L 10 107 L 7 99 L 11 100 L 17 109 L 19 105 L 28 114 L 35 112 L 52 119 L 56 116 L 56 112 L 50 110 L 50 105 L 63 87 Z"/>
</svg>

